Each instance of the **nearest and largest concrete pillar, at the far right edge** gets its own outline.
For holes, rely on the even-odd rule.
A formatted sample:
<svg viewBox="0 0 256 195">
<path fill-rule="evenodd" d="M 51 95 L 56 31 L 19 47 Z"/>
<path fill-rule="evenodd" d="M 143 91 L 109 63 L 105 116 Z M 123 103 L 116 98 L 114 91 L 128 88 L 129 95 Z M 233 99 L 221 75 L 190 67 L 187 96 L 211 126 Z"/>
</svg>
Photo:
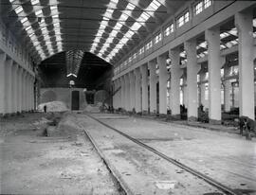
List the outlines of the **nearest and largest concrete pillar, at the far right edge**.
<svg viewBox="0 0 256 195">
<path fill-rule="evenodd" d="M 254 119 L 254 42 L 252 19 L 252 9 L 235 15 L 235 25 L 238 29 L 239 39 L 239 115 L 246 115 Z"/>
</svg>

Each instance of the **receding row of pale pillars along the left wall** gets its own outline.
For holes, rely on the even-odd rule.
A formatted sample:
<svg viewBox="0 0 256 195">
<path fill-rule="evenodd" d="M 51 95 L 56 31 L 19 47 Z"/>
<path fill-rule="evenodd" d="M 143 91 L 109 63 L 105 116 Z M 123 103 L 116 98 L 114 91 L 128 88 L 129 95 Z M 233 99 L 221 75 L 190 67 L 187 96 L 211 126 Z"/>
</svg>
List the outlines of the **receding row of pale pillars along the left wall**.
<svg viewBox="0 0 256 195">
<path fill-rule="evenodd" d="M 6 54 L 0 54 L 0 115 L 34 109 L 34 77 Z"/>
</svg>

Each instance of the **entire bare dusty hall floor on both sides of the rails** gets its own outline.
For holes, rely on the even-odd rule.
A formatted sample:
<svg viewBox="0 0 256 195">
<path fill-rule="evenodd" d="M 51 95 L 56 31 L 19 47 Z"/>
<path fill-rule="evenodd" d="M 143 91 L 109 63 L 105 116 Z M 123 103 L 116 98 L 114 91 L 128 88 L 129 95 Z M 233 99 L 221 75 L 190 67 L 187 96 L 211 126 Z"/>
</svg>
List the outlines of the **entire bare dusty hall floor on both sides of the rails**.
<svg viewBox="0 0 256 195">
<path fill-rule="evenodd" d="M 125 115 L 93 115 L 236 192 L 256 194 L 255 139 Z M 46 116 L 1 121 L 1 193 L 119 194 L 85 130 L 131 194 L 222 194 L 87 115 L 65 115 L 59 126 L 67 134 L 42 136 Z"/>
</svg>

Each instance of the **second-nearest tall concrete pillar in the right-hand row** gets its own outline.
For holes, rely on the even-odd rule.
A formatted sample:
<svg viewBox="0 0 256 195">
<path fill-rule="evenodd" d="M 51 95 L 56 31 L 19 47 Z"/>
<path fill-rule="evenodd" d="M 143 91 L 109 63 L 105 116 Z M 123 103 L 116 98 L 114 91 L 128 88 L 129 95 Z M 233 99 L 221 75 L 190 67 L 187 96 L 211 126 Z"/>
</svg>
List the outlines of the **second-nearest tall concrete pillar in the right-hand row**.
<svg viewBox="0 0 256 195">
<path fill-rule="evenodd" d="M 209 71 L 209 122 L 221 123 L 221 56 L 220 28 L 207 29 Z"/>
</svg>

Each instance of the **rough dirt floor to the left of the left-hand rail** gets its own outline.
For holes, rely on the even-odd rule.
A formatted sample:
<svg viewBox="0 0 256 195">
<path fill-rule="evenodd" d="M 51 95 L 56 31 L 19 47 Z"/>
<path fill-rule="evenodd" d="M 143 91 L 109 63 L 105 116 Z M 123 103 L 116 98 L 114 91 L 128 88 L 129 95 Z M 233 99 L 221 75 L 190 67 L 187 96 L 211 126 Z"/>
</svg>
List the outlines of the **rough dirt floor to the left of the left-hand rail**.
<svg viewBox="0 0 256 195">
<path fill-rule="evenodd" d="M 49 115 L 1 119 L 0 194 L 120 194 L 75 118 L 64 117 L 69 133 L 52 137 L 43 131 Z"/>
</svg>

